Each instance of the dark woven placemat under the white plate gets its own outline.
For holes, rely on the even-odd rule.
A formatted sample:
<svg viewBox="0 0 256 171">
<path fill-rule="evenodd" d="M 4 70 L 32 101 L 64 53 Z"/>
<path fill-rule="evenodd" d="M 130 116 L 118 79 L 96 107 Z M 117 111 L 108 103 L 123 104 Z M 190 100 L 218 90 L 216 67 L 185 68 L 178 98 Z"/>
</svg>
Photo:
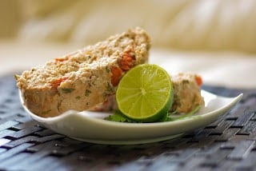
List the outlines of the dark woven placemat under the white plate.
<svg viewBox="0 0 256 171">
<path fill-rule="evenodd" d="M 22 109 L 14 78 L 0 78 L 1 170 L 255 170 L 256 89 L 203 86 L 242 101 L 205 128 L 175 141 L 95 145 L 38 125 Z"/>
</svg>

